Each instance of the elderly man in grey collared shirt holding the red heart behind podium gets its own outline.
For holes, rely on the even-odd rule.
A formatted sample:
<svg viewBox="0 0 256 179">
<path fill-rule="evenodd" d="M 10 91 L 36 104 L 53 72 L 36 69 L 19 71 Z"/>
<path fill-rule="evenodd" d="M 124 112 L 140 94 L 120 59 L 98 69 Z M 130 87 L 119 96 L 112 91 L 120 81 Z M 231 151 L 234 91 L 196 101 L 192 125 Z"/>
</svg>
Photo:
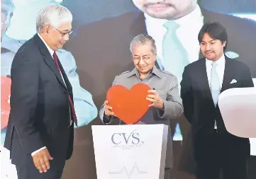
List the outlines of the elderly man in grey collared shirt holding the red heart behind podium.
<svg viewBox="0 0 256 179">
<path fill-rule="evenodd" d="M 152 90 L 148 91 L 147 100 L 152 102 L 150 109 L 137 124 L 164 124 L 169 126 L 170 121 L 183 114 L 182 98 L 179 96 L 177 77 L 173 74 L 157 69 L 155 61 L 157 47 L 155 40 L 150 35 L 140 34 L 130 42 L 130 52 L 134 68 L 118 74 L 113 85 L 122 85 L 130 89 L 136 83 L 145 83 Z M 101 106 L 99 117 L 105 125 L 113 120 L 119 120 L 113 113 L 112 106 L 106 100 Z M 120 125 L 125 123 L 120 120 Z M 171 178 L 173 167 L 171 129 L 167 137 L 167 152 L 165 160 L 165 179 Z"/>
</svg>

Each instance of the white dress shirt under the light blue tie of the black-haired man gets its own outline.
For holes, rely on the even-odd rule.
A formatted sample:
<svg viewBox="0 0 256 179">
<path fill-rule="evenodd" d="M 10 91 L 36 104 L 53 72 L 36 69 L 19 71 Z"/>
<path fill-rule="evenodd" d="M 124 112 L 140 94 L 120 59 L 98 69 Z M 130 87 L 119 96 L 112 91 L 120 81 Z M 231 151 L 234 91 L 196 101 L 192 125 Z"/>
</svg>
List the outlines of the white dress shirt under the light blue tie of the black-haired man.
<svg viewBox="0 0 256 179">
<path fill-rule="evenodd" d="M 222 88 L 222 83 L 223 83 L 223 76 L 224 76 L 224 71 L 225 71 L 225 56 L 224 54 L 221 56 L 220 59 L 216 61 L 216 72 L 218 75 L 218 79 L 220 81 L 220 86 Z M 207 78 L 208 78 L 208 84 L 211 89 L 211 69 L 212 69 L 212 64 L 213 61 L 206 59 L 206 72 L 207 72 Z M 216 121 L 214 124 L 214 129 L 217 129 Z"/>
</svg>

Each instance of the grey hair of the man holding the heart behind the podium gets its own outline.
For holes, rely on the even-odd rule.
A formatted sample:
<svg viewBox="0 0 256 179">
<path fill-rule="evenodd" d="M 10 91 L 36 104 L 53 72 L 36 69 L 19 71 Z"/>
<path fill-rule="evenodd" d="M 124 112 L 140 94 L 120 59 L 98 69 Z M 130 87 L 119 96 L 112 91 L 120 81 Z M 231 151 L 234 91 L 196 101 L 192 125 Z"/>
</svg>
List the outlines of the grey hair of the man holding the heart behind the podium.
<svg viewBox="0 0 256 179">
<path fill-rule="evenodd" d="M 133 38 L 132 41 L 130 41 L 130 52 L 133 53 L 133 46 L 134 45 L 145 45 L 145 43 L 147 43 L 147 42 L 151 42 L 152 52 L 154 54 L 156 54 L 157 53 L 157 47 L 155 45 L 155 40 L 150 35 L 147 35 L 147 34 L 137 35 Z"/>
</svg>

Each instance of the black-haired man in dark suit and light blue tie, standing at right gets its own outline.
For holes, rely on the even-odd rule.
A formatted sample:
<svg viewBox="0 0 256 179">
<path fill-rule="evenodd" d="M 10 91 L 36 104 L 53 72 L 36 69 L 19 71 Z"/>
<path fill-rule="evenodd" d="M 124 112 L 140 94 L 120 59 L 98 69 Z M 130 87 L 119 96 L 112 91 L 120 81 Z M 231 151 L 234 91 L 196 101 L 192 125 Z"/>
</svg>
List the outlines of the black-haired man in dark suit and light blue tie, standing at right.
<svg viewBox="0 0 256 179">
<path fill-rule="evenodd" d="M 250 69 L 224 54 L 228 41 L 220 23 L 206 23 L 198 40 L 204 58 L 184 69 L 181 96 L 184 115 L 191 123 L 196 178 L 247 178 L 249 139 L 227 132 L 218 108 L 218 96 L 229 88 L 253 87 Z M 243 120 L 243 119 L 241 119 Z"/>
</svg>

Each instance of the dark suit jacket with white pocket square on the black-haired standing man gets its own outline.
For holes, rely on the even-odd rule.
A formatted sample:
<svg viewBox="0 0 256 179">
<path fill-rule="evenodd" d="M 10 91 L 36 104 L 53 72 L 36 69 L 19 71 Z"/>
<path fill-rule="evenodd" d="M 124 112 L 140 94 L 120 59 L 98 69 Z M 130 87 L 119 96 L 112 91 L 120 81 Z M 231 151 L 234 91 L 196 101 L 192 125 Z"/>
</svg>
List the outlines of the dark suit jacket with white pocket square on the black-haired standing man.
<svg viewBox="0 0 256 179">
<path fill-rule="evenodd" d="M 230 83 L 233 79 L 237 83 Z M 229 88 L 245 87 L 253 87 L 250 69 L 242 62 L 226 57 L 221 92 Z M 211 90 L 208 85 L 205 58 L 185 67 L 181 82 L 181 97 L 184 105 L 184 115 L 191 123 L 194 156 L 198 156 L 197 149 L 202 145 L 201 139 L 205 139 L 212 134 L 215 120 L 218 132 L 228 134 L 218 104 L 216 107 L 213 104 Z M 228 135 L 230 135 L 231 140 L 237 142 L 236 145 L 247 144 L 245 151 L 246 155 L 250 156 L 249 139 Z"/>
</svg>

